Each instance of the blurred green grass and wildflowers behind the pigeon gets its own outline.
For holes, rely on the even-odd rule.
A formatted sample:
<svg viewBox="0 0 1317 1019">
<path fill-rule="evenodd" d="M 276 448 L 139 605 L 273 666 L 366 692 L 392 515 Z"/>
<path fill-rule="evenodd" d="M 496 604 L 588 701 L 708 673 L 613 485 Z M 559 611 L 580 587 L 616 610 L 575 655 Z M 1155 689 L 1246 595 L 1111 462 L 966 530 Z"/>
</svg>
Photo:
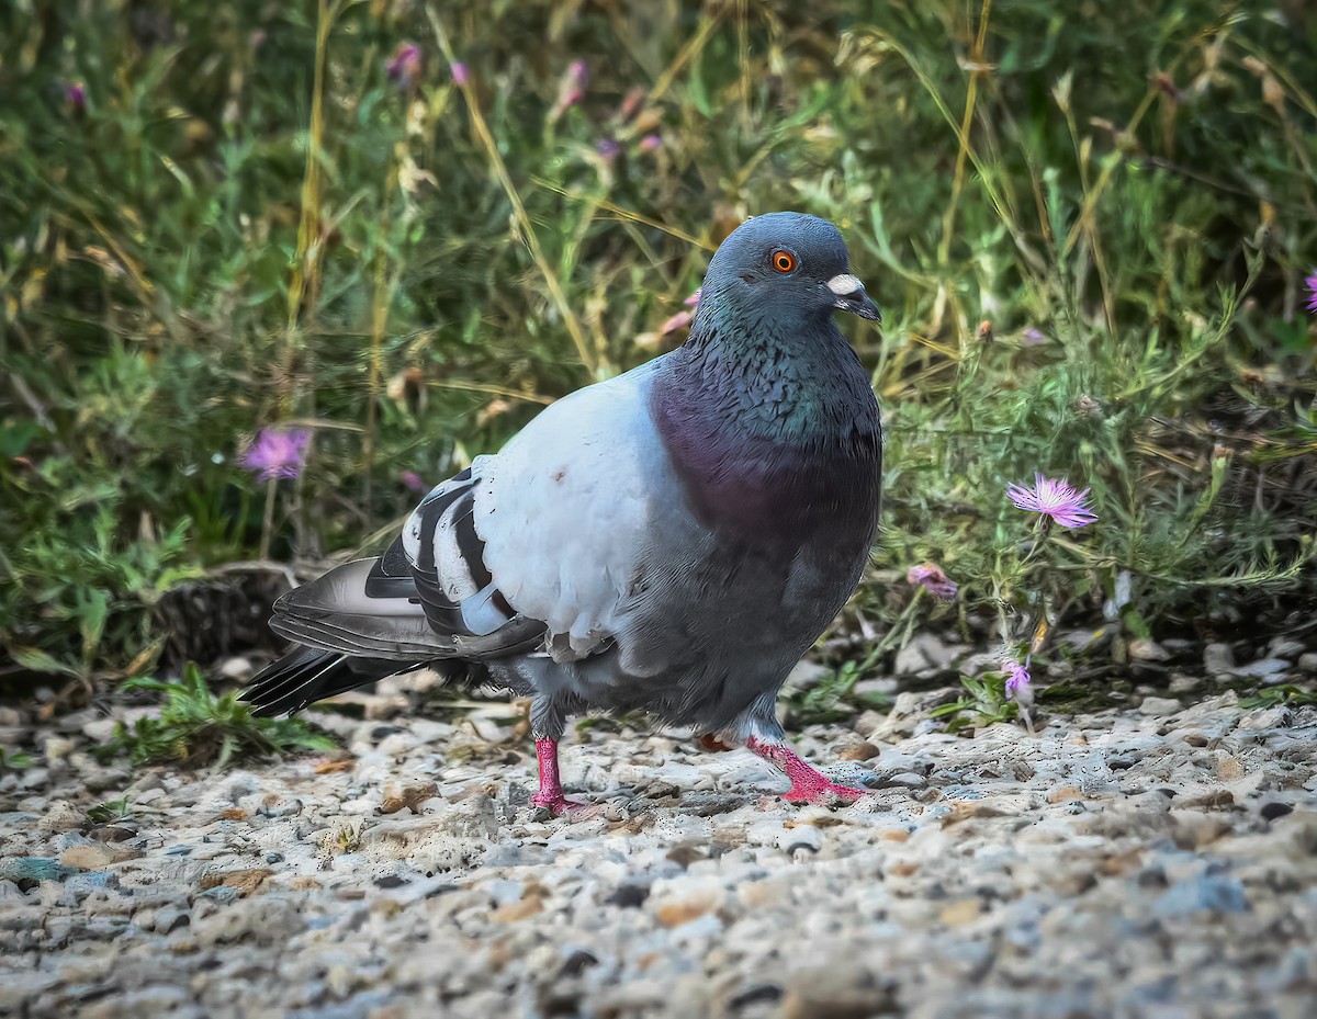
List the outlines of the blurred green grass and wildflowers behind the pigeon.
<svg viewBox="0 0 1317 1019">
<path fill-rule="evenodd" d="M 1301 0 L 12 0 L 0 96 L 11 675 L 142 673 L 173 595 L 377 550 L 410 471 L 678 344 L 777 208 L 885 311 L 844 324 L 889 431 L 848 632 L 911 632 L 932 560 L 986 633 L 1035 470 L 1100 516 L 1026 592 L 1056 620 L 1310 617 Z M 296 481 L 241 465 L 270 425 Z"/>
</svg>

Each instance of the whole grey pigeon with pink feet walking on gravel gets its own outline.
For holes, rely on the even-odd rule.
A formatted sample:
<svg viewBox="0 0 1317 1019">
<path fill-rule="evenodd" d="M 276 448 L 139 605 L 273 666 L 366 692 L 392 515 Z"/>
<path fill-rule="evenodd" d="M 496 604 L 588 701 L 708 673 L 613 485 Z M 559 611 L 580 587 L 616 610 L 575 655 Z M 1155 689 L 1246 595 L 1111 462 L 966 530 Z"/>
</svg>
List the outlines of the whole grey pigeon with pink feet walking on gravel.
<svg viewBox="0 0 1317 1019">
<path fill-rule="evenodd" d="M 685 344 L 554 402 L 436 486 L 383 556 L 279 598 L 270 627 L 302 646 L 253 678 L 253 714 L 431 666 L 531 699 L 532 802 L 553 816 L 598 810 L 558 773 L 568 718 L 591 710 L 747 748 L 788 802 L 857 800 L 776 708 L 878 520 L 878 404 L 834 311 L 881 323 L 835 225 L 743 222 Z"/>
</svg>

